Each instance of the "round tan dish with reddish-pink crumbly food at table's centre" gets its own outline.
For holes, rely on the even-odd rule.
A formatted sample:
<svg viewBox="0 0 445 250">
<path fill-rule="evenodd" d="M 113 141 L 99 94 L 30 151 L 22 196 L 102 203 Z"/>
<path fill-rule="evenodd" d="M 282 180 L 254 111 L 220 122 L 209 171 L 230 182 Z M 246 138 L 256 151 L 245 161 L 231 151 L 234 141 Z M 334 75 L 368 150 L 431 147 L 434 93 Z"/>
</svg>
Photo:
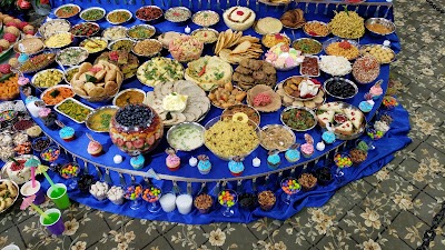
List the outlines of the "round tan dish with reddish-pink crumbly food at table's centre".
<svg viewBox="0 0 445 250">
<path fill-rule="evenodd" d="M 274 112 L 281 108 L 281 98 L 269 86 L 258 84 L 247 91 L 247 103 L 258 111 Z"/>
</svg>

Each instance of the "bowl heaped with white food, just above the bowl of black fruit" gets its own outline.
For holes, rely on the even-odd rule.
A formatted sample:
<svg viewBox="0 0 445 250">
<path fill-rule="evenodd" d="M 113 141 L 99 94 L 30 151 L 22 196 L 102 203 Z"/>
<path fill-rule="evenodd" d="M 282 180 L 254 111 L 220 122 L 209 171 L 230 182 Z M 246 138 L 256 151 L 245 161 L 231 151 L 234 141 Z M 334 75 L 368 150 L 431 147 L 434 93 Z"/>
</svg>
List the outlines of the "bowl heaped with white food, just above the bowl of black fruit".
<svg viewBox="0 0 445 250">
<path fill-rule="evenodd" d="M 350 62 L 345 57 L 320 56 L 320 70 L 333 77 L 344 77 L 353 70 Z"/>
</svg>

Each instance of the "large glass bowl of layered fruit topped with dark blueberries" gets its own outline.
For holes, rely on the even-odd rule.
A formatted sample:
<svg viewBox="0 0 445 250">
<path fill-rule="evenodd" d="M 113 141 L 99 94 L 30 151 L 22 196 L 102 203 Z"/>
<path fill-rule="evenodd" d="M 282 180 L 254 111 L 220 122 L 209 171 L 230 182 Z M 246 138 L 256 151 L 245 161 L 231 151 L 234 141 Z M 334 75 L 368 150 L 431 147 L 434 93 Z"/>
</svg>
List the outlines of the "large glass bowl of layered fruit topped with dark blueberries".
<svg viewBox="0 0 445 250">
<path fill-rule="evenodd" d="M 111 118 L 111 141 L 129 156 L 154 150 L 162 139 L 162 120 L 149 106 L 128 104 L 120 108 Z"/>
</svg>

